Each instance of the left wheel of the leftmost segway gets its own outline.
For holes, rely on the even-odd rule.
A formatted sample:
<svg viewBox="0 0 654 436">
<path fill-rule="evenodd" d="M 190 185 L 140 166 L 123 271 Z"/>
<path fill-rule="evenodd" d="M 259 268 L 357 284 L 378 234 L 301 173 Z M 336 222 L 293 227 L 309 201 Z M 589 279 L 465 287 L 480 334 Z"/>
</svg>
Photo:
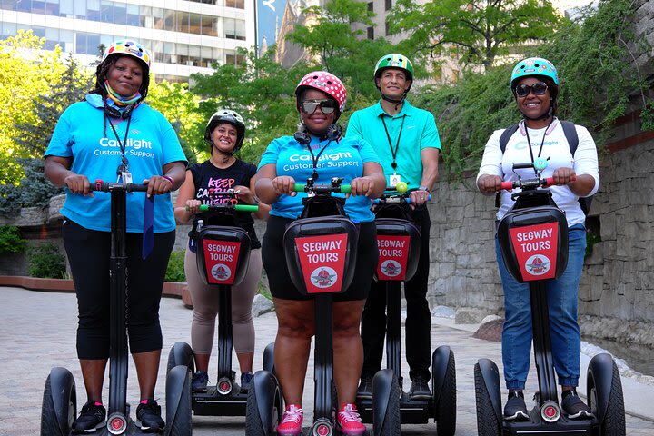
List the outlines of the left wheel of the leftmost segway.
<svg viewBox="0 0 654 436">
<path fill-rule="evenodd" d="M 53 368 L 45 380 L 41 407 L 41 436 L 68 436 L 77 416 L 74 377 L 64 368 Z"/>
</svg>

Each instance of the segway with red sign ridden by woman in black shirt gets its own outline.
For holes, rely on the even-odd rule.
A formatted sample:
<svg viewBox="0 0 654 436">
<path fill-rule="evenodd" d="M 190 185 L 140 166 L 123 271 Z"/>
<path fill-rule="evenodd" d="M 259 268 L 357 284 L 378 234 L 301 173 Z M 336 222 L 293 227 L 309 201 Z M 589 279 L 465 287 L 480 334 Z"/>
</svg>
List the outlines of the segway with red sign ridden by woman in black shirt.
<svg viewBox="0 0 654 436">
<path fill-rule="evenodd" d="M 258 206 L 235 204 L 238 191 L 213 193 L 226 203 L 201 205 L 200 211 L 211 212 L 211 224 L 201 220 L 193 230 L 197 249 L 197 269 L 203 282 L 215 286 L 218 293 L 218 372 L 215 386 L 205 392 L 188 387 L 193 413 L 198 416 L 245 416 L 247 393 L 235 381 L 232 371 L 232 287 L 243 282 L 250 260 L 250 236 L 236 226 L 236 212 L 256 212 Z M 272 359 L 269 359 L 272 362 Z M 194 372 L 193 350 L 186 342 L 176 342 L 168 355 L 168 371 L 184 365 Z"/>
</svg>

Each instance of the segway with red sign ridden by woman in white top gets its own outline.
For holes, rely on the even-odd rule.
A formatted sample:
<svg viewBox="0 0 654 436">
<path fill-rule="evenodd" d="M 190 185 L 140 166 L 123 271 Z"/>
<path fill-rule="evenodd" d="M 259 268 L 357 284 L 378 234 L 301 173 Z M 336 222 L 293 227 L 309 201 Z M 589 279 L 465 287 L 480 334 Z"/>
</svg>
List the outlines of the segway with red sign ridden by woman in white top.
<svg viewBox="0 0 654 436">
<path fill-rule="evenodd" d="M 540 178 L 547 160 L 519 163 L 513 170 L 533 168 L 537 177 L 504 182 L 501 189 L 520 188 L 511 199 L 515 204 L 498 226 L 502 259 L 510 274 L 530 284 L 531 322 L 534 362 L 539 391 L 536 405 L 527 421 L 505 421 L 500 399 L 500 372 L 489 359 L 475 364 L 477 428 L 481 436 L 499 435 L 596 435 L 625 434 L 625 412 L 618 368 L 609 356 L 601 353 L 592 358 L 588 368 L 587 395 L 593 417 L 570 420 L 561 411 L 557 395 L 556 373 L 552 361 L 550 318 L 547 302 L 548 280 L 560 277 L 568 264 L 568 223 L 565 213 L 551 198 L 547 188 L 553 178 Z M 530 234 L 530 243 L 520 243 Z"/>
</svg>

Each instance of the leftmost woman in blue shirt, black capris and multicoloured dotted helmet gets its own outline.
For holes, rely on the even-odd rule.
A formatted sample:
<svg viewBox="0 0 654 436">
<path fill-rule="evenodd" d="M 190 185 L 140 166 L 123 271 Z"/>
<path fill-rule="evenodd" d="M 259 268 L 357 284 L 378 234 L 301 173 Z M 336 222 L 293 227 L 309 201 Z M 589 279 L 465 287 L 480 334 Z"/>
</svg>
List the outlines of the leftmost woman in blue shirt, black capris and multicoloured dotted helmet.
<svg viewBox="0 0 654 436">
<path fill-rule="evenodd" d="M 170 191 L 184 180 L 186 158 L 163 115 L 143 103 L 151 56 L 140 44 L 116 41 L 104 52 L 95 88 L 72 104 L 57 123 L 45 151 L 45 175 L 66 187 L 62 208 L 64 246 L 73 273 L 79 323 L 77 356 L 88 401 L 74 421 L 74 433 L 102 427 L 104 372 L 109 357 L 110 193 L 94 193 L 89 180 L 147 183 L 147 193 L 127 195 L 129 346 L 141 391 L 137 425 L 163 431 L 154 401 L 162 332 L 159 302 L 175 222 Z M 154 244 L 144 244 L 145 195 L 154 198 Z M 149 238 L 148 238 L 149 239 Z M 145 253 L 142 253 L 142 247 Z M 149 255 L 147 251 L 152 249 Z M 145 259 L 144 259 L 145 257 Z"/>
</svg>

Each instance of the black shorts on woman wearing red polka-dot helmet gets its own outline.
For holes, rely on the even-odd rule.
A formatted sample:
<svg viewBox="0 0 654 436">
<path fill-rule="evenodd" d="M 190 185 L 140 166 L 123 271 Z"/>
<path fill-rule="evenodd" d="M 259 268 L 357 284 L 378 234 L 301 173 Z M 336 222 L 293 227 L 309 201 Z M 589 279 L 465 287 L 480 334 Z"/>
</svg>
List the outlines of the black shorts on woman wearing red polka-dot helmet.
<svg viewBox="0 0 654 436">
<path fill-rule="evenodd" d="M 303 295 L 291 281 L 286 257 L 283 252 L 283 234 L 288 224 L 294 220 L 271 215 L 266 233 L 263 235 L 263 268 L 268 275 L 272 296 L 283 300 L 312 300 L 311 295 Z M 379 251 L 377 249 L 377 227 L 374 222 L 359 223 L 359 244 L 357 246 L 357 265 L 350 287 L 333 295 L 335 302 L 365 300 L 372 282 Z"/>
</svg>

